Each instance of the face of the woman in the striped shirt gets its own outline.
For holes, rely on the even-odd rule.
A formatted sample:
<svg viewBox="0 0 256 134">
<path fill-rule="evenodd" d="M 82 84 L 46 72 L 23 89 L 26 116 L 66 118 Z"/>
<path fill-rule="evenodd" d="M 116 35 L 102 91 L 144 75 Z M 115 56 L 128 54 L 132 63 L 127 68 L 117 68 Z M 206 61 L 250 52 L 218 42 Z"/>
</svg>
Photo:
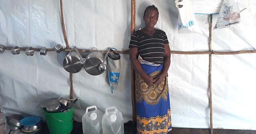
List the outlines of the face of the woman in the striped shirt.
<svg viewBox="0 0 256 134">
<path fill-rule="evenodd" d="M 155 9 L 149 9 L 144 16 L 146 26 L 154 27 L 158 21 L 158 12 Z"/>
</svg>

